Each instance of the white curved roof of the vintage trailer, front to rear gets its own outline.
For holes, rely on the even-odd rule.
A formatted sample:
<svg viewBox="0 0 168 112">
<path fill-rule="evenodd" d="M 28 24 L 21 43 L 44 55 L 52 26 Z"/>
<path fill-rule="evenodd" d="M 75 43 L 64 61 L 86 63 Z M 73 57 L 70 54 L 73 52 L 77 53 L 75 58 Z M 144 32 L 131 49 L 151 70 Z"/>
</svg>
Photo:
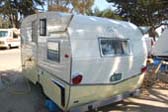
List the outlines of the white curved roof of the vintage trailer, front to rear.
<svg viewBox="0 0 168 112">
<path fill-rule="evenodd" d="M 72 15 L 61 12 L 45 12 L 28 16 L 22 23 L 22 26 L 28 25 L 28 21 L 46 18 L 47 29 L 49 32 L 65 31 L 67 28 L 69 33 L 85 34 L 88 32 L 96 33 L 98 37 L 119 37 L 119 38 L 142 38 L 139 28 L 130 22 L 106 19 L 94 16 Z M 54 21 L 53 21 L 54 20 Z M 31 26 L 31 22 L 29 25 Z M 55 27 L 57 26 L 57 27 Z M 50 31 L 51 30 L 51 31 Z M 87 35 L 87 34 L 86 34 Z M 73 36 L 72 38 L 87 38 L 87 36 Z M 94 38 L 94 37 L 93 37 Z"/>
</svg>

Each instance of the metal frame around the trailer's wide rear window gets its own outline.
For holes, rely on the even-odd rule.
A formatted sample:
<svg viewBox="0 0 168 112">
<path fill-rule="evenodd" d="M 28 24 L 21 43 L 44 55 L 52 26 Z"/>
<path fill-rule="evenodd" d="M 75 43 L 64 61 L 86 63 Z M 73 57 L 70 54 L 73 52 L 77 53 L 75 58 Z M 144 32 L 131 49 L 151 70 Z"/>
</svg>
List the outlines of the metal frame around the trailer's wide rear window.
<svg viewBox="0 0 168 112">
<path fill-rule="evenodd" d="M 101 40 L 114 40 L 114 41 L 118 40 L 118 41 L 121 41 L 121 42 L 126 41 L 127 44 L 128 44 L 128 51 L 129 51 L 129 53 L 128 54 L 126 54 L 126 53 L 124 53 L 124 54 L 115 54 L 114 53 L 114 54 L 110 54 L 110 55 L 104 55 L 103 51 L 102 51 Z M 132 55 L 132 50 L 130 48 L 130 40 L 129 39 L 112 38 L 112 37 L 110 37 L 110 38 L 108 38 L 108 37 L 99 37 L 98 38 L 98 43 L 99 43 L 99 51 L 100 51 L 100 56 L 101 57 L 119 57 L 119 56 L 124 57 L 124 56 L 130 56 L 130 55 Z"/>
</svg>

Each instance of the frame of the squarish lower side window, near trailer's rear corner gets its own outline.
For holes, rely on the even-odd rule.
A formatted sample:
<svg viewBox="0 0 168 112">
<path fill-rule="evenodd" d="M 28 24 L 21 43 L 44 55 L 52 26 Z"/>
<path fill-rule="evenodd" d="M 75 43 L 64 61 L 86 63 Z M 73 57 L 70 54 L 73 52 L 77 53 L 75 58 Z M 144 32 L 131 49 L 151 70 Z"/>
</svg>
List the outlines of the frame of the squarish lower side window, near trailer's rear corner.
<svg viewBox="0 0 168 112">
<path fill-rule="evenodd" d="M 58 59 L 57 60 L 52 60 L 49 58 L 49 49 L 48 49 L 48 43 L 58 43 Z M 47 54 L 46 54 L 46 58 L 48 61 L 50 62 L 55 62 L 55 63 L 60 63 L 61 62 L 61 45 L 60 45 L 60 41 L 47 41 Z"/>
</svg>

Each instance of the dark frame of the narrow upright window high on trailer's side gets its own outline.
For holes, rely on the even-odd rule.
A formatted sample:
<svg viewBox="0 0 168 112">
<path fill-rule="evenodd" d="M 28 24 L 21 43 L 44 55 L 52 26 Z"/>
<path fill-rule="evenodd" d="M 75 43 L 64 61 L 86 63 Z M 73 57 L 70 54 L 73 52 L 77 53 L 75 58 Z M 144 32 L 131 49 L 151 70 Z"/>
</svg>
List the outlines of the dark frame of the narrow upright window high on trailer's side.
<svg viewBox="0 0 168 112">
<path fill-rule="evenodd" d="M 44 26 L 42 26 L 42 23 L 41 22 L 44 22 Z M 42 29 L 44 30 L 44 32 L 42 32 Z M 42 19 L 39 19 L 39 35 L 40 36 L 47 36 L 47 19 L 46 18 L 42 18 Z"/>
</svg>

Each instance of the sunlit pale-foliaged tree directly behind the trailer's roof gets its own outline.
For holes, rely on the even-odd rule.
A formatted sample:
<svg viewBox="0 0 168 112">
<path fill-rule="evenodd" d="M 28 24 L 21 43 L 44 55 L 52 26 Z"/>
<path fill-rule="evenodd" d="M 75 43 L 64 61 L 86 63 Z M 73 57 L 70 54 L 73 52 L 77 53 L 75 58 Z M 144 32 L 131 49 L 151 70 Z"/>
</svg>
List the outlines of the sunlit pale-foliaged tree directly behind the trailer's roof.
<svg viewBox="0 0 168 112">
<path fill-rule="evenodd" d="M 86 14 L 94 0 L 49 0 L 49 11 Z"/>
</svg>

